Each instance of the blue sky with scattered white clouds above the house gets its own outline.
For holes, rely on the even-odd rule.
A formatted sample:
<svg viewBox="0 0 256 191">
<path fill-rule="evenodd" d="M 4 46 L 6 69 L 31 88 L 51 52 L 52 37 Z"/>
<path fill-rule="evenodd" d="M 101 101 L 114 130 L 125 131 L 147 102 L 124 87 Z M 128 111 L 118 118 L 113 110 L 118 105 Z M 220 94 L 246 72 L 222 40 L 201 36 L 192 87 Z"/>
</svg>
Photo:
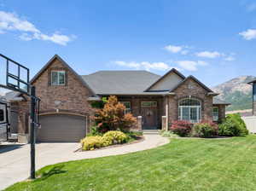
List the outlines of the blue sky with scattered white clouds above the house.
<svg viewBox="0 0 256 191">
<path fill-rule="evenodd" d="M 32 75 L 58 54 L 79 74 L 176 67 L 213 86 L 256 76 L 256 1 L 0 0 L 0 46 Z"/>
</svg>

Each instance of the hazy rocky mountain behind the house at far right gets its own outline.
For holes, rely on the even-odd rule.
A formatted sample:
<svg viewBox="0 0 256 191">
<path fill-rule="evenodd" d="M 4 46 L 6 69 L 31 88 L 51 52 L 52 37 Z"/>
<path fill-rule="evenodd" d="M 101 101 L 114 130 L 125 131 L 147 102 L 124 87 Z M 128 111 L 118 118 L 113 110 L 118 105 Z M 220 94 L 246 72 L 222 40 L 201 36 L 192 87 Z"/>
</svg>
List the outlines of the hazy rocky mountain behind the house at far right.
<svg viewBox="0 0 256 191">
<path fill-rule="evenodd" d="M 212 90 L 219 93 L 218 99 L 231 103 L 231 106 L 227 107 L 228 111 L 250 109 L 253 88 L 247 83 L 254 78 L 254 76 L 240 76 L 219 84 Z"/>
</svg>

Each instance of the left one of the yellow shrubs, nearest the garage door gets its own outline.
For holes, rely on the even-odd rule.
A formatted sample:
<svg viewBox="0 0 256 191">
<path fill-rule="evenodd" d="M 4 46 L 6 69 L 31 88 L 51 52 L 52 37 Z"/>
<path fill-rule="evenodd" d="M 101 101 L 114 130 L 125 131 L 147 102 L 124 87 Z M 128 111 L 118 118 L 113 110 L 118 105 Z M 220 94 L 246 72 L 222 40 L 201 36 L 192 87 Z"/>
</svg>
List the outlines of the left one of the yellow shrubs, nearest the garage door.
<svg viewBox="0 0 256 191">
<path fill-rule="evenodd" d="M 85 151 L 101 148 L 103 145 L 102 136 L 86 136 L 80 143 L 82 144 L 82 149 Z"/>
</svg>

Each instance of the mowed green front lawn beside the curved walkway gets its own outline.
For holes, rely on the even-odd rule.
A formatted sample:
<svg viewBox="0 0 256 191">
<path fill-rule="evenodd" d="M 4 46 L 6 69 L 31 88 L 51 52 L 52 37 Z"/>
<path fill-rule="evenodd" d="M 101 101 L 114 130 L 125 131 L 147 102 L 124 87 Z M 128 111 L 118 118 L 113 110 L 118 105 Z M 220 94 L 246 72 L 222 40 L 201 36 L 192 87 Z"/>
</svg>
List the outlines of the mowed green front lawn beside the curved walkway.
<svg viewBox="0 0 256 191">
<path fill-rule="evenodd" d="M 256 136 L 172 139 L 148 151 L 49 165 L 6 190 L 256 190 Z"/>
</svg>

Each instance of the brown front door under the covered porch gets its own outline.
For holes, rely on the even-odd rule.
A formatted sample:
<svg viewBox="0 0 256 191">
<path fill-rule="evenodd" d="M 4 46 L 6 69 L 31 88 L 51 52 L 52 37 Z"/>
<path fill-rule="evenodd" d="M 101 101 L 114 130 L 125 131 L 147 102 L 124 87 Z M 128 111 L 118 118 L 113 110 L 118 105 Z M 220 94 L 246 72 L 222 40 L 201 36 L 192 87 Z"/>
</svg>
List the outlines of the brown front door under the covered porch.
<svg viewBox="0 0 256 191">
<path fill-rule="evenodd" d="M 157 102 L 156 101 L 142 101 L 142 116 L 143 129 L 156 130 L 157 129 Z"/>
</svg>

